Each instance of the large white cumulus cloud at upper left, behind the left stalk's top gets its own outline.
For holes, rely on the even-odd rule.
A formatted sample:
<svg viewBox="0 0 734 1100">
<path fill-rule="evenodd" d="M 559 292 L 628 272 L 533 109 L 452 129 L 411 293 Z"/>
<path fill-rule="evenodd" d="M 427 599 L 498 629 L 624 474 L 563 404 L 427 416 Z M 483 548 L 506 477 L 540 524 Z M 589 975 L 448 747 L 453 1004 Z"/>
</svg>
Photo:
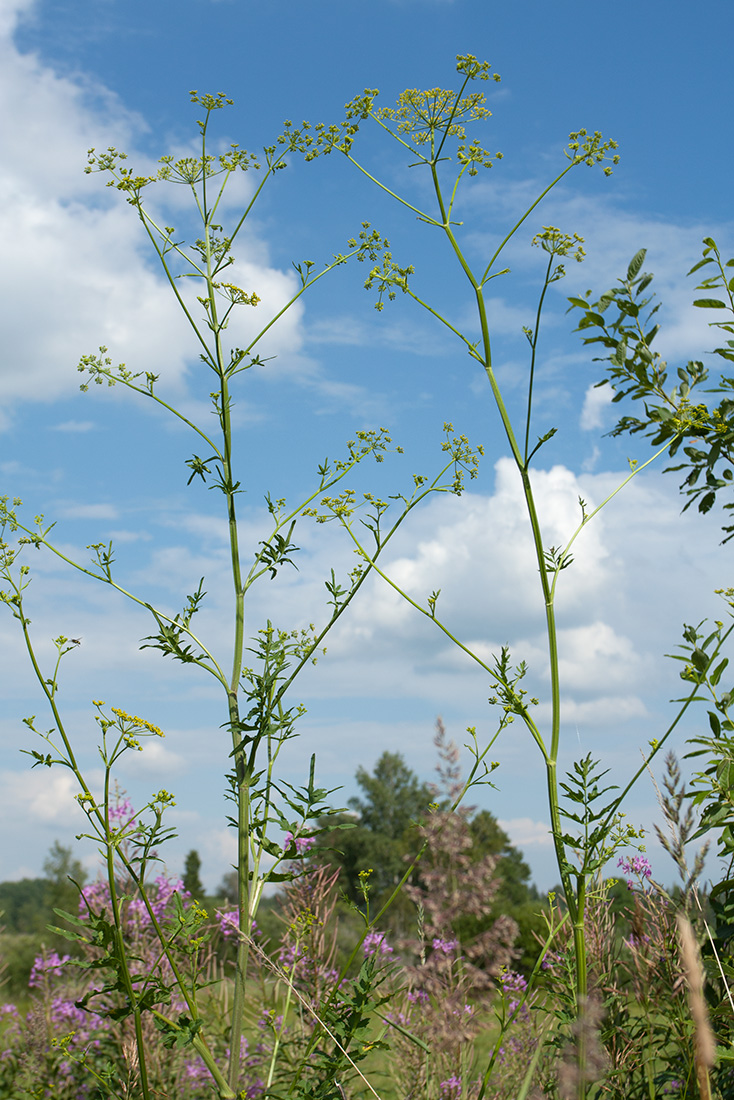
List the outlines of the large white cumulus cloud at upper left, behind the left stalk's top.
<svg viewBox="0 0 734 1100">
<path fill-rule="evenodd" d="M 80 355 L 99 345 L 110 349 L 114 362 L 160 374 L 162 384 L 184 398 L 185 410 L 188 324 L 151 266 L 145 234 L 130 207 L 107 191 L 99 176 L 83 170 L 88 148 L 109 145 L 129 150 L 136 168 L 150 170 L 149 158 L 135 154 L 146 124 L 89 77 L 62 76 L 37 54 L 17 48 L 17 21 L 31 8 L 21 0 L 6 3 L 0 20 L 0 95 L 13 103 L 0 122 L 0 428 L 20 400 L 51 402 L 76 391 Z M 163 194 L 164 185 L 156 186 Z M 154 208 L 155 191 L 150 190 Z M 177 198 L 166 201 L 175 207 Z M 261 305 L 234 310 L 229 336 L 240 345 L 297 289 L 293 272 L 270 264 L 263 242 L 249 237 L 245 243 L 255 260 L 238 258 L 228 274 L 255 290 Z M 199 312 L 196 290 L 188 285 L 186 297 Z M 318 365 L 298 354 L 302 327 L 303 307 L 296 304 L 271 330 L 262 353 L 281 356 L 271 375 L 297 367 L 318 383 Z M 91 427 L 74 420 L 57 426 L 67 432 Z"/>
</svg>

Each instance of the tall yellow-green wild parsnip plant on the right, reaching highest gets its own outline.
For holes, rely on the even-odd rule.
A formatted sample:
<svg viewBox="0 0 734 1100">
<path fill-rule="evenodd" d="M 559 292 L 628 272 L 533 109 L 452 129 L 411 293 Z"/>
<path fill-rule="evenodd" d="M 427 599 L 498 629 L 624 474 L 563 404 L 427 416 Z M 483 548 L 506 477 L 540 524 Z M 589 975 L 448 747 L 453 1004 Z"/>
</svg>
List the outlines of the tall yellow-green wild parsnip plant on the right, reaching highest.
<svg viewBox="0 0 734 1100">
<path fill-rule="evenodd" d="M 348 105 L 347 120 L 340 130 L 332 129 L 321 133 L 320 140 L 327 147 L 340 152 L 372 184 L 392 196 L 398 204 L 416 215 L 418 220 L 431 230 L 436 230 L 449 252 L 463 272 L 468 284 L 469 300 L 475 307 L 475 318 L 479 324 L 480 339 L 472 341 L 450 321 L 441 310 L 440 305 L 429 302 L 415 289 L 415 270 L 410 264 L 402 266 L 393 258 L 391 251 L 382 253 L 381 262 L 370 272 L 368 288 L 376 288 L 379 300 L 376 308 L 382 310 L 385 299 L 394 300 L 399 292 L 446 326 L 463 345 L 469 356 L 484 372 L 490 385 L 494 404 L 500 416 L 504 438 L 510 448 L 523 486 L 527 512 L 527 520 L 532 534 L 535 559 L 539 573 L 539 606 L 546 618 L 547 645 L 549 657 L 548 694 L 551 704 L 551 718 L 548 728 L 543 728 L 534 717 L 537 698 L 529 698 L 522 686 L 527 672 L 524 661 L 513 662 L 507 648 L 494 657 L 492 663 L 485 662 L 471 647 L 458 638 L 450 626 L 445 623 L 438 612 L 440 592 L 434 591 L 425 602 L 414 600 L 407 592 L 380 568 L 376 556 L 383 546 L 383 528 L 391 531 L 385 514 L 387 505 L 366 502 L 373 509 L 369 522 L 374 535 L 374 546 L 368 544 L 361 534 L 361 526 L 355 520 L 361 513 L 355 502 L 344 497 L 335 502 L 332 498 L 321 499 L 322 514 L 319 518 L 335 518 L 351 537 L 361 560 L 372 568 L 398 592 L 417 612 L 434 623 L 452 642 L 468 653 L 484 670 L 492 686 L 490 700 L 501 711 L 497 735 L 518 718 L 525 726 L 527 735 L 537 746 L 547 777 L 548 810 L 552 839 L 558 864 L 560 881 L 563 888 L 565 903 L 572 927 L 574 950 L 574 983 L 579 1013 L 585 1010 L 589 996 L 587 944 L 584 932 L 584 914 L 587 910 L 587 891 L 600 869 L 609 862 L 623 846 L 638 846 L 640 834 L 634 826 L 625 822 L 621 806 L 628 791 L 644 773 L 649 761 L 666 743 L 672 729 L 677 726 L 682 713 L 695 696 L 695 689 L 681 700 L 681 708 L 667 732 L 655 739 L 640 767 L 629 778 L 621 791 L 604 787 L 606 772 L 591 757 L 577 761 L 566 781 L 558 777 L 558 757 L 561 736 L 561 683 L 559 672 L 559 652 L 556 625 L 556 596 L 560 578 L 565 570 L 572 565 L 572 549 L 577 538 L 595 515 L 609 501 L 622 490 L 637 473 L 646 469 L 662 453 L 671 442 L 677 443 L 686 433 L 688 420 L 683 422 L 666 419 L 667 431 L 656 440 L 658 450 L 644 463 L 631 462 L 629 475 L 605 501 L 593 509 L 589 509 L 584 501 L 579 501 L 579 525 L 569 532 L 565 546 L 547 546 L 536 506 L 532 466 L 541 449 L 550 441 L 556 429 L 547 431 L 537 439 L 533 437 L 534 386 L 536 381 L 537 355 L 540 339 L 540 322 L 548 288 L 566 275 L 566 263 L 569 260 L 581 262 L 584 256 L 583 240 L 576 233 L 563 232 L 560 229 L 546 226 L 533 237 L 532 244 L 545 253 L 545 270 L 541 272 L 540 289 L 535 317 L 535 323 L 525 328 L 529 345 L 527 372 L 527 400 L 525 414 L 519 424 L 514 424 L 500 385 L 493 359 L 492 329 L 487 317 L 485 292 L 489 283 L 508 274 L 508 268 L 500 270 L 503 250 L 525 224 L 543 198 L 571 172 L 581 166 L 600 166 L 604 175 L 612 173 L 612 166 L 618 162 L 616 142 L 605 141 L 598 131 L 578 130 L 570 134 L 567 148 L 563 151 L 566 165 L 562 170 L 543 190 L 538 198 L 525 210 L 523 216 L 500 241 L 495 251 L 480 267 L 470 262 L 467 250 L 461 243 L 462 222 L 456 218 L 461 188 L 468 179 L 480 172 L 491 168 L 501 154 L 492 154 L 483 147 L 479 138 L 471 136 L 468 128 L 481 123 L 490 116 L 485 106 L 485 97 L 481 91 L 470 90 L 473 81 L 499 80 L 496 74 L 490 73 L 486 62 L 479 62 L 472 55 L 457 58 L 457 72 L 461 80 L 458 91 L 443 88 L 427 90 L 407 89 L 395 107 L 377 106 L 377 92 L 365 90 Z M 375 176 L 358 156 L 357 143 L 360 128 L 372 122 L 380 127 L 386 135 L 401 146 L 409 157 L 413 168 L 419 167 L 429 180 L 431 206 L 418 206 L 419 199 L 407 198 L 397 194 Z M 704 262 L 711 262 L 713 257 Z M 631 264 L 628 279 L 636 278 L 642 257 L 638 255 Z M 617 300 L 617 299 L 615 299 Z M 703 304 L 703 302 L 702 302 Z M 710 304 L 710 302 L 709 302 Z M 617 300 L 621 309 L 623 302 Z M 627 310 L 625 309 L 625 320 Z M 589 318 L 591 315 L 587 315 Z M 636 316 L 636 315 L 635 315 Z M 590 321 L 589 323 L 594 323 Z M 618 337 L 616 341 L 618 342 Z M 662 443 L 664 446 L 659 446 Z M 730 476 L 727 473 L 726 476 Z M 405 501 L 405 498 L 403 498 Z M 405 502 L 407 505 L 408 503 Z M 412 504 L 412 502 L 410 502 Z M 362 524 L 364 520 L 362 519 Z M 382 525 L 382 526 L 381 526 Z M 487 574 L 487 578 L 491 574 Z M 711 639 L 711 652 L 708 659 L 715 660 L 731 629 L 720 631 Z M 581 1067 L 585 1062 L 583 1048 L 584 1031 L 579 1028 L 578 1047 Z M 580 1070 L 579 1096 L 585 1094 L 583 1084 L 584 1070 Z"/>
</svg>

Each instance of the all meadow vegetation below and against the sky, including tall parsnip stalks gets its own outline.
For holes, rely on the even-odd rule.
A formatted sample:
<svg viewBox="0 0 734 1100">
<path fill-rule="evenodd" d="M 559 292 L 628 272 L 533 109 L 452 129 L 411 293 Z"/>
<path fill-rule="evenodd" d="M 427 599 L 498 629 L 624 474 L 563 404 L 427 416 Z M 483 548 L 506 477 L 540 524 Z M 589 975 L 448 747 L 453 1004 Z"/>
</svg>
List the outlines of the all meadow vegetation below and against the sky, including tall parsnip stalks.
<svg viewBox="0 0 734 1100">
<path fill-rule="evenodd" d="M 124 153 L 89 152 L 87 170 L 102 174 L 134 210 L 190 324 L 217 431 L 172 407 L 158 376 L 116 365 L 107 348 L 81 358 L 81 388 L 124 386 L 157 403 L 194 435 L 188 483 L 221 494 L 227 519 L 232 648 L 222 656 L 197 631 L 205 579 L 183 598 L 178 614 L 166 614 L 149 593 L 119 583 L 111 543 L 91 546 L 91 563 L 76 560 L 55 541 L 53 522 L 43 516 L 26 518 L 22 502 L 10 494 L 0 499 L 0 600 L 18 623 L 50 712 L 50 718 L 23 719 L 37 746 L 23 751 L 33 767 L 72 771 L 84 836 L 103 853 L 100 876 L 85 883 L 78 867 L 68 862 L 69 854 L 57 849 L 46 880 L 55 883 L 56 893 L 44 888 L 43 901 L 39 897 L 32 903 L 37 912 L 48 899 L 54 902 L 56 938 L 34 956 L 30 1000 L 20 1009 L 10 1002 L 3 1008 L 3 1094 L 19 1100 L 665 1094 L 723 1100 L 734 1094 L 734 879 L 728 870 L 734 854 L 734 726 L 728 717 L 732 693 L 725 688 L 734 590 L 721 592 L 726 622 L 683 627 L 676 657 L 682 697 L 668 728 L 644 747 L 643 761 L 627 781 L 610 785 L 604 761 L 591 756 L 559 776 L 563 685 L 556 601 L 565 572 L 573 568 L 577 539 L 607 501 L 592 506 L 580 499 L 576 530 L 563 546 L 547 546 L 532 469 L 555 429 L 534 437 L 534 387 L 547 292 L 565 276 L 569 260 L 583 260 L 582 240 L 552 226 L 536 228 L 533 237 L 543 267 L 536 321 L 525 330 L 527 399 L 518 422 L 497 377 L 486 311 L 490 280 L 507 274 L 500 270 L 507 242 L 569 173 L 587 166 L 611 174 L 618 160 L 616 143 L 598 132 L 571 133 L 562 170 L 474 270 L 454 208 L 462 189 L 501 156 L 473 133 L 489 116 L 484 96 L 475 89 L 499 78 L 471 55 L 457 59 L 457 73 L 458 92 L 408 89 L 394 107 L 379 106 L 377 92 L 366 89 L 347 105 L 342 121 L 314 127 L 287 122 L 261 154 L 239 145 L 212 154 L 209 130 L 228 100 L 196 92 L 191 99 L 201 114 L 200 155 L 166 155 L 154 175 L 138 175 Z M 380 128 L 425 173 L 427 190 L 397 194 L 361 161 L 360 131 L 366 125 Z M 233 249 L 243 243 L 238 238 L 247 218 L 288 160 L 322 156 L 346 157 L 371 186 L 443 239 L 465 277 L 478 340 L 445 317 L 440 302 L 424 299 L 415 288 L 413 266 L 398 263 L 388 241 L 362 223 L 343 251 L 328 250 L 331 258 L 321 267 L 296 263 L 300 285 L 292 300 L 263 320 L 247 346 L 228 344 L 233 311 L 256 311 L 260 305 L 256 287 L 240 287 L 224 274 L 234 262 Z M 240 172 L 254 174 L 256 183 L 244 210 L 224 228 L 222 196 Z M 190 193 L 200 235 L 189 245 L 146 205 L 149 188 L 166 184 Z M 644 409 L 623 416 L 615 432 L 646 433 L 653 442 L 651 457 L 632 462 L 611 496 L 667 452 L 682 459 L 671 469 L 684 471 L 687 504 L 695 503 L 702 513 L 716 502 L 732 508 L 726 493 L 734 481 L 734 381 L 722 376 L 716 387 L 705 388 L 706 367 L 694 362 L 676 369 L 670 387 L 668 365 L 654 348 L 658 306 L 649 295 L 653 276 L 644 273 L 644 261 L 639 251 L 618 285 L 599 298 L 590 292 L 569 299 L 579 311 L 582 339 L 603 353 L 600 385 L 612 386 L 615 402 L 637 402 L 635 409 Z M 388 501 L 370 492 L 358 497 L 350 476 L 355 468 L 371 459 L 383 462 L 399 448 L 386 429 L 360 428 L 341 458 L 318 465 L 304 498 L 286 503 L 269 495 L 270 535 L 255 546 L 244 541 L 233 396 L 247 383 L 247 372 L 263 366 L 266 334 L 278 318 L 314 284 L 351 262 L 366 264 L 365 286 L 376 293 L 380 311 L 398 293 L 427 309 L 486 378 L 535 547 L 528 584 L 537 586 L 546 624 L 547 722 L 537 717 L 539 700 L 523 686 L 527 668 L 522 654 L 515 658 L 505 647 L 485 659 L 443 620 L 440 591 L 414 598 L 384 564 L 391 539 L 404 525 L 409 527 L 410 514 L 424 501 L 434 494 L 460 496 L 476 474 L 482 447 L 452 425 L 445 426 L 437 470 L 415 474 Z M 714 311 L 712 324 L 724 337 L 734 336 L 732 266 L 734 261 L 725 262 L 706 238 L 693 268 L 704 294 L 695 305 Z M 195 295 L 189 294 L 191 279 Z M 734 341 L 724 339 L 713 354 L 734 361 Z M 719 404 L 710 400 L 711 393 Z M 294 454 L 295 461 L 303 462 L 302 455 Z M 357 551 L 357 565 L 346 576 L 332 571 L 325 579 L 326 609 L 314 608 L 311 624 L 251 624 L 245 615 L 251 590 L 263 580 L 276 581 L 285 566 L 295 564 L 295 531 L 305 522 L 317 530 L 329 522 L 341 528 Z M 731 537 L 732 527 L 724 530 Z M 227 884 L 231 904 L 222 900 L 211 906 L 197 895 L 195 854 L 187 861 L 186 883 L 162 870 L 174 794 L 160 790 L 145 805 L 133 806 L 116 785 L 120 758 L 163 736 L 157 725 L 129 714 L 119 705 L 122 701 L 95 700 L 103 782 L 98 787 L 87 779 L 59 698 L 63 667 L 78 640 L 59 634 L 55 659 L 44 666 L 29 610 L 31 550 L 55 554 L 89 583 L 122 593 L 152 620 L 153 632 L 143 638 L 143 647 L 190 666 L 193 675 L 217 685 L 220 704 L 211 726 L 224 729 L 231 740 L 226 788 L 238 837 L 237 866 Z M 486 566 L 489 583 L 489 560 Z M 363 798 L 351 807 L 336 807 L 332 792 L 317 783 L 315 759 L 303 784 L 294 787 L 282 780 L 278 758 L 297 735 L 303 714 L 294 697 L 299 673 L 322 651 L 327 635 L 349 614 L 365 583 L 379 580 L 474 661 L 496 714 L 495 732 L 486 743 L 475 728 L 467 732 L 464 771 L 460 749 L 439 724 L 434 788 L 421 784 L 399 756 L 387 754 L 373 776 L 358 776 Z M 668 743 L 682 715 L 701 703 L 709 728 L 682 749 L 697 761 L 686 790 Z M 469 806 L 472 791 L 491 785 L 496 767 L 492 748 L 513 723 L 534 746 L 546 780 L 558 870 L 558 889 L 547 899 L 534 897 L 522 857 L 492 816 Z M 654 879 L 639 831 L 623 809 L 633 785 L 656 758 L 659 772 L 664 757 L 660 836 L 679 870 L 676 890 Z M 706 835 L 717 845 L 724 869 L 720 881 L 704 890 L 699 883 L 701 856 L 688 857 L 687 848 Z M 613 882 L 610 871 L 623 883 Z M 73 897 L 69 877 L 78 884 Z M 273 890 L 271 901 L 266 893 Z M 18 914 L 9 916 L 18 927 Z M 62 942 L 68 943 L 67 952 L 59 948 Z M 17 976 L 13 980 L 18 983 Z"/>
</svg>

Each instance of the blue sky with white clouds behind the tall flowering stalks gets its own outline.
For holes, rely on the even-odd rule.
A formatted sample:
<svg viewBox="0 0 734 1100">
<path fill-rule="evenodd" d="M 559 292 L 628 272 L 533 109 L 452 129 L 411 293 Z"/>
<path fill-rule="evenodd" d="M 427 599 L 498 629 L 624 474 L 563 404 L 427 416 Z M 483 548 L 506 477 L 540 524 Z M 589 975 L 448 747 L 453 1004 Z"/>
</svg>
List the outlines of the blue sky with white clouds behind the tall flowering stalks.
<svg viewBox="0 0 734 1100">
<path fill-rule="evenodd" d="M 144 402 L 120 387 L 78 392 L 81 354 L 99 344 L 133 370 L 161 374 L 162 393 L 206 422 L 209 380 L 161 279 L 134 212 L 98 176 L 84 175 L 86 151 L 114 145 L 141 170 L 169 151 L 186 153 L 197 109 L 188 91 L 226 91 L 215 138 L 259 150 L 283 120 L 339 120 L 364 87 L 391 103 L 406 87 L 456 87 L 454 57 L 491 62 L 502 82 L 482 86 L 493 114 L 478 128 L 502 162 L 470 180 L 461 199 L 462 241 L 480 262 L 493 242 L 565 164 L 571 130 L 601 130 L 620 143 L 611 178 L 579 168 L 528 220 L 508 250 L 512 275 L 495 284 L 490 317 L 497 373 L 514 411 L 526 384 L 523 324 L 532 322 L 543 271 L 530 238 L 544 224 L 585 239 L 583 266 L 569 264 L 551 288 L 541 342 L 537 432 L 559 429 L 536 482 L 547 542 L 568 537 L 579 494 L 599 502 L 624 475 L 644 441 L 604 438 L 614 413 L 593 383 L 598 366 L 572 332 L 566 295 L 605 289 L 639 248 L 664 309 L 660 348 L 671 364 L 712 346 L 705 318 L 690 306 L 686 272 L 713 235 L 732 253 L 732 157 L 722 130 L 731 8 L 693 15 L 682 2 L 649 0 L 628 13 L 556 0 L 512 6 L 479 0 L 0 0 L 0 209 L 4 263 L 0 359 L 0 493 L 21 496 L 32 514 L 57 520 L 62 546 L 84 558 L 90 542 L 113 539 L 120 580 L 175 610 L 206 576 L 201 615 L 212 644 L 229 638 L 226 542 L 221 517 L 200 486 L 186 487 L 191 444 Z M 425 184 L 397 146 L 366 128 L 360 153 L 370 169 L 412 201 Z M 231 209 L 249 194 L 238 185 Z M 157 201 L 157 199 L 152 200 Z M 161 199 L 175 224 L 188 217 L 180 195 Z M 471 301 L 445 243 L 337 156 L 295 162 L 264 194 L 238 260 L 261 310 L 293 293 L 292 262 L 327 262 L 363 221 L 390 238 L 396 258 L 416 267 L 414 286 L 472 331 Z M 493 249 L 492 249 L 493 251 Z M 485 380 L 461 346 L 401 296 L 382 314 L 354 265 L 322 280 L 273 330 L 275 358 L 238 393 L 242 521 L 263 537 L 263 494 L 294 503 L 326 454 L 338 457 L 357 429 L 385 425 L 405 454 L 366 471 L 361 486 L 405 490 L 415 472 L 436 469 L 441 425 L 450 420 L 486 455 L 460 499 L 437 498 L 416 515 L 388 558 L 416 598 L 440 587 L 454 631 L 485 653 L 508 642 L 544 697 L 543 606 L 528 551 L 519 490 Z M 715 587 L 730 583 L 731 548 L 719 544 L 715 516 L 680 516 L 675 477 L 650 471 L 602 514 L 578 544 L 559 596 L 565 762 L 588 751 L 623 778 L 638 747 L 658 736 L 678 694 L 662 654 L 683 622 L 721 614 Z M 322 581 L 353 557 L 331 527 L 302 525 L 299 571 L 254 593 L 250 622 L 299 627 L 325 612 Z M 232 858 L 221 773 L 228 747 L 221 701 L 210 686 L 171 668 L 140 639 L 150 624 L 113 593 L 59 568 L 34 562 L 31 617 L 43 639 L 64 632 L 83 645 L 67 661 L 64 702 L 83 757 L 95 772 L 89 701 L 106 698 L 166 730 L 156 751 L 123 768 L 134 799 L 165 785 L 178 804 L 172 870 L 197 847 L 213 887 Z M 0 818 L 12 844 L 0 879 L 39 872 L 55 838 L 81 828 L 73 787 L 61 770 L 29 772 L 21 717 L 41 703 L 10 616 L 0 619 Z M 354 793 L 359 765 L 399 750 L 421 776 L 434 767 L 431 737 L 441 714 L 463 740 L 468 725 L 492 728 L 489 685 L 446 647 L 430 624 L 388 590 L 370 588 L 329 640 L 327 657 L 297 690 L 308 707 L 302 737 L 288 746 L 284 774 L 305 778 L 317 752 L 325 785 Z M 187 674 L 184 674 L 187 673 Z M 689 724 L 688 732 L 695 728 Z M 540 760 L 514 727 L 493 750 L 499 790 L 472 801 L 491 809 L 550 887 L 551 862 Z M 682 745 L 679 743 L 679 747 Z M 631 818 L 656 816 L 643 783 Z M 90 862 L 94 853 L 79 849 Z M 658 855 L 660 878 L 671 869 Z M 656 868 L 657 870 L 657 868 Z"/>
</svg>

